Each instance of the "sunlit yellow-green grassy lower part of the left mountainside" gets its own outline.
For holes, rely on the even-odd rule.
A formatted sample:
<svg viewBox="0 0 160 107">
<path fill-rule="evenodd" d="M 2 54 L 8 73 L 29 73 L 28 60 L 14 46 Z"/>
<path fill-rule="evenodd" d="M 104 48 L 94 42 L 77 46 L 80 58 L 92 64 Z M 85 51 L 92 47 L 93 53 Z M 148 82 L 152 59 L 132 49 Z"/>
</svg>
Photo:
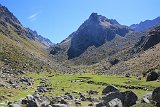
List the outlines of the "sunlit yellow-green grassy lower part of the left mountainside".
<svg viewBox="0 0 160 107">
<path fill-rule="evenodd" d="M 49 59 L 46 47 L 36 40 L 11 32 L 11 36 L 0 32 L 0 67 L 9 65 L 20 70 L 45 68 Z"/>
</svg>

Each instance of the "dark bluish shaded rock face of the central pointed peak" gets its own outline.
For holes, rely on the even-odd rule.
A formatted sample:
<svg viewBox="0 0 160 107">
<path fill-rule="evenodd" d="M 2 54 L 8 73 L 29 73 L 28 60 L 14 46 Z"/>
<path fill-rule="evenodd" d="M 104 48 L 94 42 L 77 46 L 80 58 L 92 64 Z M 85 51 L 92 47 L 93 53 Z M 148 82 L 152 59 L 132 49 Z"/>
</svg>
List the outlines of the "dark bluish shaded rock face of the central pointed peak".
<svg viewBox="0 0 160 107">
<path fill-rule="evenodd" d="M 90 46 L 99 47 L 116 35 L 124 37 L 129 31 L 127 26 L 120 25 L 116 20 L 92 13 L 72 35 L 68 59 L 80 56 Z"/>
</svg>

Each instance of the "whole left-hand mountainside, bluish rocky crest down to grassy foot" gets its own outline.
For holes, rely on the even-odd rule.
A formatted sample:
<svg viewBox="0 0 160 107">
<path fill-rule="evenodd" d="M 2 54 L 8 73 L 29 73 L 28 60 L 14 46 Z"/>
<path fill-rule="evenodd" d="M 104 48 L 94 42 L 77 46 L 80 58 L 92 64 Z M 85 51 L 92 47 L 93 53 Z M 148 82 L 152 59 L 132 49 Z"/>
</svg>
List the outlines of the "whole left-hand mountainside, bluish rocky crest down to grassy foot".
<svg viewBox="0 0 160 107">
<path fill-rule="evenodd" d="M 51 42 L 26 29 L 4 6 L 0 5 L 0 69 L 10 73 L 49 69 L 47 48 Z"/>
</svg>

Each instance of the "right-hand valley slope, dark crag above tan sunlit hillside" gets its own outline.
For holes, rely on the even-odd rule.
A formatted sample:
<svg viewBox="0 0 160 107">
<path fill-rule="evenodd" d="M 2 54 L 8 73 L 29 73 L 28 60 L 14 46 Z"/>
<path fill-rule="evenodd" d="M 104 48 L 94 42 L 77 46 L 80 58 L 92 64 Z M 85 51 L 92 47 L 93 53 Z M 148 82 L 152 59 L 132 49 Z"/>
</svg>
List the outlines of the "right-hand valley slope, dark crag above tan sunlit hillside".
<svg viewBox="0 0 160 107">
<path fill-rule="evenodd" d="M 134 57 L 107 68 L 105 73 L 142 75 L 148 70 L 160 69 L 160 25 L 149 29 L 131 50 Z"/>
</svg>

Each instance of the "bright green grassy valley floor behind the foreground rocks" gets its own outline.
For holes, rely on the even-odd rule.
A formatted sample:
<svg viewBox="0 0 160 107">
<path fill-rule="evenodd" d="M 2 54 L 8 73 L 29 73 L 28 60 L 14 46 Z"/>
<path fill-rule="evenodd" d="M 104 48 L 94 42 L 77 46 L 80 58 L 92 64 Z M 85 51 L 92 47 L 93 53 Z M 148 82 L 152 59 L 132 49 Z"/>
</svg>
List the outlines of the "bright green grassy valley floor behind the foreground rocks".
<svg viewBox="0 0 160 107">
<path fill-rule="evenodd" d="M 124 77 L 120 75 L 97 75 L 91 73 L 77 73 L 77 74 L 55 74 L 50 72 L 33 73 L 29 72 L 23 77 L 31 77 L 34 84 L 28 89 L 8 89 L 0 87 L 0 102 L 1 106 L 5 105 L 7 101 L 17 101 L 18 99 L 25 98 L 28 94 L 33 94 L 37 87 L 40 85 L 41 80 L 45 79 L 45 84 L 50 84 L 51 92 L 43 92 L 41 95 L 46 96 L 59 96 L 70 93 L 74 97 L 79 97 L 82 93 L 86 98 L 94 97 L 99 99 L 102 96 L 102 90 L 107 85 L 114 85 L 120 91 L 131 90 L 139 98 L 146 93 L 153 91 L 154 88 L 160 86 L 159 81 L 146 82 L 145 78 L 141 80 L 136 77 Z M 98 94 L 89 95 L 87 91 L 96 90 Z M 71 102 L 71 105 L 73 102 Z M 87 106 L 90 102 L 82 102 L 82 106 Z"/>
</svg>

